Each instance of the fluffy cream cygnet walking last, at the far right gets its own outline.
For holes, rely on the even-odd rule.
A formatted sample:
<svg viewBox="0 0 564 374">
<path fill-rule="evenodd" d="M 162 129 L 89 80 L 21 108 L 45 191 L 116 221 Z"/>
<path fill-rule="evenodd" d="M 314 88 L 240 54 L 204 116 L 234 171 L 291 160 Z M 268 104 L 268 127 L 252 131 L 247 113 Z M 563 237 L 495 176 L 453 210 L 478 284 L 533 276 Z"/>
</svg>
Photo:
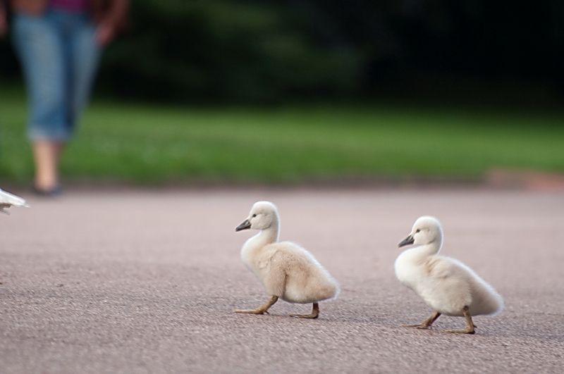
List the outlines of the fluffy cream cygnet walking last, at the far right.
<svg viewBox="0 0 564 374">
<path fill-rule="evenodd" d="M 415 291 L 434 310 L 431 317 L 419 325 L 405 327 L 430 328 L 444 314 L 464 316 L 465 330 L 448 330 L 474 334 L 472 316 L 496 314 L 503 308 L 503 299 L 482 278 L 454 258 L 440 256 L 443 244 L 441 223 L 434 217 L 423 216 L 413 225 L 410 235 L 398 244 L 415 244 L 396 258 L 398 280 Z"/>
</svg>

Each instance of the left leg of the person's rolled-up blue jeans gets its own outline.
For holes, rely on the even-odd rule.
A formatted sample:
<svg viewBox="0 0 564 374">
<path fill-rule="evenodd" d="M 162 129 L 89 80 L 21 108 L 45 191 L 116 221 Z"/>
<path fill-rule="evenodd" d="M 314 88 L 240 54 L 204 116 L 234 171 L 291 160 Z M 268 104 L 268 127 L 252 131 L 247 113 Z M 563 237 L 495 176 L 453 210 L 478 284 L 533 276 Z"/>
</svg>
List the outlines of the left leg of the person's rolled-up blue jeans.
<svg viewBox="0 0 564 374">
<path fill-rule="evenodd" d="M 43 17 L 16 13 L 13 41 L 25 75 L 32 141 L 68 138 L 65 116 L 63 46 L 56 27 Z"/>
</svg>

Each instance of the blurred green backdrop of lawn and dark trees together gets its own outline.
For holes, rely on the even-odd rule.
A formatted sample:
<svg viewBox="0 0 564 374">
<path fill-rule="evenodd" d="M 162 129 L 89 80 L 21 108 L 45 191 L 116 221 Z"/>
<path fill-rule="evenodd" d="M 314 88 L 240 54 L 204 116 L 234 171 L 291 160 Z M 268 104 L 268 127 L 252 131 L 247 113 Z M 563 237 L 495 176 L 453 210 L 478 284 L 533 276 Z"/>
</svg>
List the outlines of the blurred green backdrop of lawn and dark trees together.
<svg viewBox="0 0 564 374">
<path fill-rule="evenodd" d="M 133 0 L 66 182 L 476 182 L 564 173 L 564 5 Z M 32 175 L 0 41 L 0 180 Z"/>
</svg>

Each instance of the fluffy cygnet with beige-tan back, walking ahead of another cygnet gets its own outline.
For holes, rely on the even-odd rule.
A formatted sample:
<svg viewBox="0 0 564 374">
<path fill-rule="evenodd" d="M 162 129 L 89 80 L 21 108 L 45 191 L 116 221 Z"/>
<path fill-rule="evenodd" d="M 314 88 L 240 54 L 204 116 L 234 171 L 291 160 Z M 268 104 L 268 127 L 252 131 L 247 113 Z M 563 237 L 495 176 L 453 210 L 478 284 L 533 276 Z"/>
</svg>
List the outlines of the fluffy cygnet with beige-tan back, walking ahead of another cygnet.
<svg viewBox="0 0 564 374">
<path fill-rule="evenodd" d="M 339 292 L 337 281 L 308 251 L 292 242 L 278 242 L 280 218 L 276 206 L 258 201 L 247 219 L 235 231 L 255 229 L 260 232 L 245 242 L 241 259 L 270 295 L 269 301 L 250 311 L 235 313 L 268 314 L 268 309 L 283 299 L 290 303 L 313 303 L 311 314 L 291 314 L 317 318 L 319 301 L 334 299 Z"/>
</svg>

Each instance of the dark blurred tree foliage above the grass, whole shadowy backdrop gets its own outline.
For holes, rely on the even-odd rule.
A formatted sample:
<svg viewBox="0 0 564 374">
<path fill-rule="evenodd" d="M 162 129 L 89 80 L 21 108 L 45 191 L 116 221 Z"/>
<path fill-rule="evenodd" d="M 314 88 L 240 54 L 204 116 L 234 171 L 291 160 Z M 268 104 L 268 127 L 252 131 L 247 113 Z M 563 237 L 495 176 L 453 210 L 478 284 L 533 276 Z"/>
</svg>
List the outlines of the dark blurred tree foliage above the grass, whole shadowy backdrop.
<svg viewBox="0 0 564 374">
<path fill-rule="evenodd" d="M 456 81 L 526 81 L 564 96 L 564 2 L 133 0 L 98 89 L 272 103 L 421 96 Z M 0 42 L 0 77 L 18 74 Z"/>
</svg>

